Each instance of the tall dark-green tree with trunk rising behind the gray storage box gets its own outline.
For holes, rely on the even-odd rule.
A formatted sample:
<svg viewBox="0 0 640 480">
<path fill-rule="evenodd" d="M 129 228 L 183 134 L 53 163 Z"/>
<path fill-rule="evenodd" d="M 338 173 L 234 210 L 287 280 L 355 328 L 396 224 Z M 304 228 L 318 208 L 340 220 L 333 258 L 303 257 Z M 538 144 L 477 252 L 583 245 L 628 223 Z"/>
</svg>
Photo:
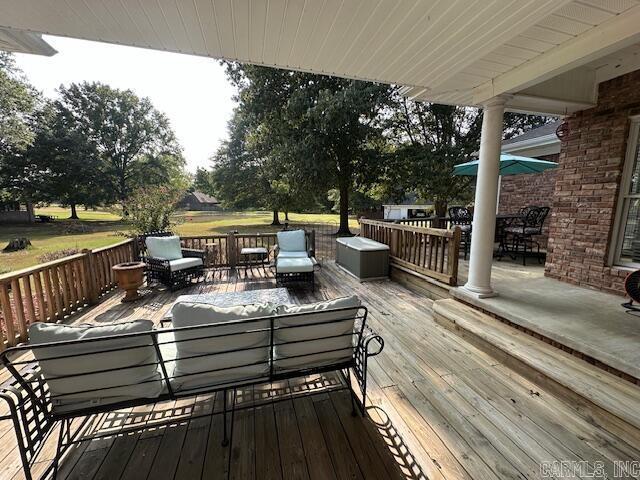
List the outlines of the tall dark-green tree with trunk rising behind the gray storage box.
<svg viewBox="0 0 640 480">
<path fill-rule="evenodd" d="M 284 168 L 287 185 L 307 197 L 338 189 L 339 233 L 349 233 L 349 193 L 377 177 L 389 87 L 237 63 L 227 72 L 245 120 L 241 145 L 251 146 L 270 173 L 281 176 Z M 271 177 L 270 186 L 281 186 Z"/>
</svg>

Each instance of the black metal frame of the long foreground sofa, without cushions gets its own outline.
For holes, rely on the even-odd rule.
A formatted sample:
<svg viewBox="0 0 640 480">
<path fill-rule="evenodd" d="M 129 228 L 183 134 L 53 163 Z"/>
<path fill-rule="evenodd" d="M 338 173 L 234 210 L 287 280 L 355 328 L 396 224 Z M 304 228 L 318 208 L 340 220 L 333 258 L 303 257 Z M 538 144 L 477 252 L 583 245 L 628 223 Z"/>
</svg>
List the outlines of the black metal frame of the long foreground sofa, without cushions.
<svg viewBox="0 0 640 480">
<path fill-rule="evenodd" d="M 198 325 L 193 327 L 182 327 L 182 328 L 171 328 L 171 329 L 156 329 L 151 332 L 141 332 L 141 333 L 132 333 L 132 334 L 124 334 L 124 335 L 114 335 L 110 337 L 96 337 L 85 340 L 73 340 L 73 341 L 65 341 L 65 342 L 55 342 L 55 343 L 42 343 L 37 345 L 21 345 L 17 347 L 9 348 L 0 353 L 0 361 L 2 364 L 8 369 L 8 371 L 12 374 L 12 380 L 5 382 L 2 386 L 0 386 L 0 399 L 4 400 L 8 406 L 9 413 L 0 416 L 0 420 L 10 420 L 13 423 L 14 432 L 17 439 L 18 451 L 20 454 L 20 459 L 22 461 L 22 467 L 24 470 L 24 475 L 26 480 L 31 480 L 31 466 L 37 461 L 38 454 L 42 450 L 46 440 L 53 432 L 57 425 L 60 425 L 58 431 L 58 439 L 56 446 L 56 453 L 52 463 L 46 468 L 45 472 L 42 474 L 40 478 L 49 478 L 51 475 L 52 478 L 56 478 L 58 473 L 58 468 L 60 464 L 61 458 L 68 451 L 68 449 L 81 441 L 86 441 L 92 438 L 100 438 L 101 436 L 113 435 L 113 432 L 108 432 L 104 434 L 96 434 L 85 437 L 83 435 L 84 429 L 88 423 L 91 422 L 92 419 L 95 419 L 97 414 L 113 412 L 116 410 L 120 410 L 123 408 L 131 408 L 143 405 L 153 405 L 157 402 L 162 402 L 166 400 L 176 400 L 178 398 L 184 397 L 192 397 L 196 395 L 202 394 L 211 394 L 211 393 L 223 393 L 223 441 L 222 445 L 227 446 L 229 444 L 229 432 L 227 427 L 227 414 L 231 413 L 231 424 L 233 425 L 233 415 L 235 410 L 239 410 L 241 408 L 253 408 L 258 406 L 257 404 L 251 404 L 246 407 L 236 408 L 235 406 L 235 397 L 236 390 L 242 387 L 266 383 L 266 382 L 275 382 L 279 380 L 286 380 L 289 378 L 296 378 L 306 375 L 313 375 L 317 373 L 327 373 L 327 372 L 338 372 L 343 381 L 345 382 L 346 388 L 350 392 L 351 397 L 351 406 L 352 406 L 352 414 L 357 415 L 357 409 L 360 410 L 360 413 L 363 417 L 366 418 L 366 401 L 367 401 L 367 363 L 370 357 L 378 355 L 382 349 L 384 348 L 384 340 L 382 337 L 373 332 L 367 325 L 367 309 L 366 307 L 358 307 L 356 308 L 340 308 L 333 310 L 324 310 L 322 313 L 339 313 L 343 311 L 355 311 L 355 323 L 354 330 L 350 333 L 346 333 L 343 335 L 328 335 L 328 336 L 318 336 L 314 338 L 309 338 L 305 340 L 296 340 L 296 341 L 288 341 L 288 342 L 280 342 L 276 343 L 274 340 L 275 332 L 278 330 L 284 329 L 295 329 L 295 328 L 305 328 L 310 326 L 320 326 L 320 325 L 329 325 L 332 323 L 344 322 L 344 316 L 342 318 L 334 319 L 334 320 L 324 320 L 318 322 L 309 322 L 304 323 L 302 325 L 278 325 L 279 320 L 288 318 L 288 317 L 299 317 L 305 315 L 313 315 L 318 312 L 309 312 L 309 313 L 294 313 L 294 314 L 286 314 L 286 315 L 278 315 L 278 316 L 269 316 L 269 317 L 260 317 L 260 318 L 250 318 L 250 319 L 242 319 L 236 320 L 232 322 L 225 322 L 220 324 L 208 324 L 208 325 Z M 259 327 L 255 327 L 254 325 L 259 322 L 269 322 L 268 328 L 260 329 Z M 211 335 L 206 334 L 205 329 L 214 329 L 215 327 L 229 327 L 233 324 L 242 324 L 247 325 L 246 330 L 242 330 L 240 332 L 234 333 L 223 333 L 219 335 Z M 202 330 L 205 333 L 202 336 L 193 336 L 184 340 L 175 340 L 172 342 L 162 341 L 158 337 L 161 335 L 166 335 L 168 333 L 173 332 L 185 332 L 185 331 L 195 331 Z M 241 364 L 241 365 L 233 365 L 231 367 L 219 368 L 213 370 L 203 370 L 195 373 L 188 373 L 183 375 L 172 375 L 170 376 L 167 373 L 166 364 L 169 362 L 175 362 L 178 359 L 166 359 L 163 358 L 161 346 L 165 344 L 173 344 L 182 342 L 190 342 L 190 341 L 203 341 L 207 339 L 221 338 L 221 337 L 230 337 L 233 335 L 242 335 L 248 332 L 260 332 L 260 331 L 268 331 L 270 342 L 268 345 L 261 345 L 258 347 L 250 347 L 250 348 L 239 348 L 239 349 L 229 349 L 225 351 L 217 351 L 215 353 L 208 354 L 198 354 L 189 357 L 182 357 L 181 360 L 188 360 L 192 358 L 203 358 L 221 354 L 228 354 L 234 352 L 241 351 L 250 351 L 255 348 L 269 348 L 269 373 L 268 375 L 263 375 L 256 378 L 244 379 L 242 382 L 237 383 L 217 383 L 209 386 L 197 387 L 184 389 L 180 391 L 175 391 L 171 380 L 179 377 L 186 377 L 192 375 L 202 375 L 205 373 L 217 373 L 223 372 L 225 370 L 231 370 L 241 367 L 248 367 L 259 365 L 262 362 L 258 363 L 249 363 L 249 364 Z M 317 340 L 331 339 L 337 338 L 341 336 L 351 336 L 354 338 L 353 347 L 349 347 L 349 350 L 353 350 L 353 354 L 351 358 L 347 361 L 342 360 L 337 363 L 321 365 L 317 367 L 309 367 L 309 368 L 300 368 L 297 370 L 287 370 L 283 372 L 276 371 L 274 368 L 274 363 L 277 363 L 278 360 L 287 360 L 298 357 L 305 357 L 310 355 L 318 355 L 323 353 L 335 353 L 342 349 L 335 350 L 324 350 L 324 351 L 313 351 L 311 353 L 302 354 L 302 355 L 291 355 L 288 357 L 277 357 L 275 354 L 275 349 L 278 346 L 286 345 L 286 344 L 299 344 L 304 342 L 313 342 Z M 25 353 L 33 353 L 37 349 L 44 348 L 63 348 L 65 345 L 70 347 L 75 347 L 78 345 L 93 343 L 93 342 L 105 342 L 109 339 L 114 340 L 122 340 L 126 338 L 149 338 L 149 343 L 138 345 L 135 347 L 120 347 L 120 348 L 111 348 L 111 349 L 100 349 L 100 350 L 92 350 L 89 353 L 81 353 L 81 354 L 72 354 L 72 355 L 60 355 L 60 356 L 49 356 L 47 360 L 57 360 L 62 358 L 77 358 L 79 362 L 82 361 L 82 357 L 87 357 L 96 353 L 108 353 L 108 352 L 119 352 L 125 350 L 132 350 L 135 348 L 149 348 L 153 346 L 158 358 L 158 362 L 149 364 L 157 365 L 161 372 L 160 380 L 150 380 L 149 382 L 161 382 L 165 386 L 165 393 L 154 397 L 154 398 L 138 398 L 129 401 L 122 401 L 118 403 L 108 404 L 108 405 L 100 405 L 95 407 L 88 408 L 79 408 L 72 411 L 66 412 L 56 412 L 52 408 L 52 397 L 47 385 L 47 380 L 43 378 L 43 375 L 40 372 L 40 366 L 37 360 L 19 360 Z M 27 355 L 29 357 L 29 355 Z M 12 360 L 15 358 L 17 360 Z M 24 357 L 22 357 L 24 358 Z M 120 369 L 105 369 L 105 370 L 97 370 L 92 372 L 83 372 L 78 374 L 70 374 L 64 376 L 58 376 L 55 378 L 50 378 L 49 380 L 58 380 L 58 379 L 67 379 L 73 377 L 80 377 L 82 375 L 87 374 L 96 374 L 96 373 L 107 373 L 114 371 L 122 371 L 127 368 L 138 368 L 141 365 L 131 365 Z M 354 391 L 353 384 L 351 382 L 351 370 L 354 372 L 355 383 L 358 385 L 360 389 L 360 396 Z M 144 382 L 143 382 L 144 383 Z M 139 385 L 139 384 L 138 384 Z M 122 384 L 115 385 L 111 387 L 101 388 L 100 391 L 104 391 L 105 389 L 117 389 L 122 387 L 128 387 L 131 385 Z M 73 395 L 77 394 L 87 394 L 91 393 L 94 390 L 78 390 L 74 391 Z M 229 392 L 233 393 L 234 401 L 229 405 L 227 404 L 227 397 L 229 396 Z M 309 392 L 313 393 L 313 392 Z M 57 397 L 61 397 L 69 394 L 59 394 Z M 272 400 L 270 400 L 272 401 Z M 356 409 L 357 407 L 357 409 Z M 215 413 L 207 413 L 202 415 L 194 415 L 190 418 L 198 418 L 211 416 L 214 414 L 218 414 L 220 412 Z M 72 420 L 74 419 L 82 419 L 79 422 L 79 425 L 76 425 L 77 422 L 74 422 L 72 425 Z M 164 423 L 172 423 L 172 419 L 169 418 L 166 421 L 155 424 L 154 426 L 161 426 Z M 72 428 L 73 427 L 73 428 Z M 120 431 L 119 433 L 126 433 L 126 431 L 134 431 L 139 430 L 140 428 L 144 428 L 140 426 L 133 426 L 127 429 Z M 126 431 L 125 431 L 126 430 Z"/>
</svg>

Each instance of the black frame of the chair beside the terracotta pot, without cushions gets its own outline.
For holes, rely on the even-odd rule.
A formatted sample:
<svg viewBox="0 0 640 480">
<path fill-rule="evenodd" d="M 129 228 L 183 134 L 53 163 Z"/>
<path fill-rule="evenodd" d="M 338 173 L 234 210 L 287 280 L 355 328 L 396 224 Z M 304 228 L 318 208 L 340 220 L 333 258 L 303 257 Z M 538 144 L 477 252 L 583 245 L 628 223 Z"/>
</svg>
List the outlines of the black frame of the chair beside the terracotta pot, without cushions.
<svg viewBox="0 0 640 480">
<path fill-rule="evenodd" d="M 171 270 L 168 260 L 153 258 L 146 255 L 145 241 L 147 237 L 170 237 L 172 232 L 149 232 L 138 237 L 138 248 L 140 249 L 140 259 L 146 264 L 147 282 L 160 282 L 171 289 L 171 291 L 188 287 L 194 280 L 204 279 L 204 263 L 206 260 L 206 252 L 195 248 L 182 248 L 182 256 L 184 258 L 200 258 L 202 264 L 183 268 L 181 270 Z"/>
</svg>

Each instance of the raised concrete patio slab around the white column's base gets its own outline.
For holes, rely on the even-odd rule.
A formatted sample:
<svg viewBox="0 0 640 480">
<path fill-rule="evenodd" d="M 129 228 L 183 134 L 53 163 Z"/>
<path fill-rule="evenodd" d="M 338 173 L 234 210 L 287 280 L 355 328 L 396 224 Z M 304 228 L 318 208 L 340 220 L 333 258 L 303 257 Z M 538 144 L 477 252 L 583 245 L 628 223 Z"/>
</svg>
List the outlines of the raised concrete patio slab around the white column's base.
<svg viewBox="0 0 640 480">
<path fill-rule="evenodd" d="M 623 297 L 547 278 L 541 265 L 494 262 L 492 278 L 496 297 L 451 294 L 640 378 L 640 317 L 625 312 Z"/>
</svg>

